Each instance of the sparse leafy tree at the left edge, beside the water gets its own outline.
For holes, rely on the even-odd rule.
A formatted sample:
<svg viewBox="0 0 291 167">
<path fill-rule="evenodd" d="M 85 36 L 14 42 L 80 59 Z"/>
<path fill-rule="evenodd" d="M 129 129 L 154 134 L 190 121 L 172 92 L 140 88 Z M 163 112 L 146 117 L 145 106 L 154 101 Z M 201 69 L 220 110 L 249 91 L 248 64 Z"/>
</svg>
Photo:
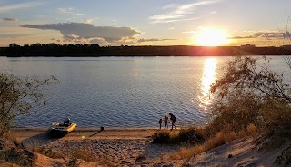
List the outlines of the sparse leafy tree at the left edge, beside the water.
<svg viewBox="0 0 291 167">
<path fill-rule="evenodd" d="M 41 102 L 41 89 L 51 83 L 57 83 L 54 76 L 46 79 L 20 78 L 0 73 L 0 136 L 9 131 L 15 116 L 28 113 L 35 104 Z"/>
</svg>

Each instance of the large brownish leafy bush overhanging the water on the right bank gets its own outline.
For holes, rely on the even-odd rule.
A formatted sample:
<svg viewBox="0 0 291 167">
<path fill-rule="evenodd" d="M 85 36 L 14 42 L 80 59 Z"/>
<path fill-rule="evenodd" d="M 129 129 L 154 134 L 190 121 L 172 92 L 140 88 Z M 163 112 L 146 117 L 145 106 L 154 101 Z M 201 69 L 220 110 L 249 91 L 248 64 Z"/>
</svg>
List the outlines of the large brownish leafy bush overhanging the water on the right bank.
<svg viewBox="0 0 291 167">
<path fill-rule="evenodd" d="M 207 127 L 210 133 L 237 133 L 250 123 L 262 129 L 291 127 L 287 121 L 291 118 L 289 87 L 268 63 L 266 57 L 236 57 L 227 63 L 226 73 L 211 87 L 216 102 Z"/>
</svg>

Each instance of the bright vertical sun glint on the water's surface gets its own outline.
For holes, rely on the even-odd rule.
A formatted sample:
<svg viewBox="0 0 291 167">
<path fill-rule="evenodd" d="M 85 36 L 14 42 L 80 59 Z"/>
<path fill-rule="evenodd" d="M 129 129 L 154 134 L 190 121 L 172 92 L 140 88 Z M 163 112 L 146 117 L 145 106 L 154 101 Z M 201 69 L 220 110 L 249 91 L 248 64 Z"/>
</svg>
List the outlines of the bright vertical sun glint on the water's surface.
<svg viewBox="0 0 291 167">
<path fill-rule="evenodd" d="M 210 93 L 210 86 L 216 81 L 216 59 L 207 58 L 204 63 L 204 71 L 201 77 L 201 93 L 199 95 L 200 107 L 207 110 L 212 102 L 213 96 Z"/>
</svg>

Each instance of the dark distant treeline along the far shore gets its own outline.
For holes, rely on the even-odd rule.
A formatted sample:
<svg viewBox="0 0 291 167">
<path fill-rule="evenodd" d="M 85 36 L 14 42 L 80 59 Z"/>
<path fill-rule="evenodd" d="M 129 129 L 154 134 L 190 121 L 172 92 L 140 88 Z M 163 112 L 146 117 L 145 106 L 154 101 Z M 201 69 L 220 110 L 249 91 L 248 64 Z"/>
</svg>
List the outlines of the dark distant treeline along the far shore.
<svg viewBox="0 0 291 167">
<path fill-rule="evenodd" d="M 290 47 L 243 46 L 99 46 L 98 44 L 9 44 L 0 56 L 228 56 L 291 55 Z"/>
</svg>

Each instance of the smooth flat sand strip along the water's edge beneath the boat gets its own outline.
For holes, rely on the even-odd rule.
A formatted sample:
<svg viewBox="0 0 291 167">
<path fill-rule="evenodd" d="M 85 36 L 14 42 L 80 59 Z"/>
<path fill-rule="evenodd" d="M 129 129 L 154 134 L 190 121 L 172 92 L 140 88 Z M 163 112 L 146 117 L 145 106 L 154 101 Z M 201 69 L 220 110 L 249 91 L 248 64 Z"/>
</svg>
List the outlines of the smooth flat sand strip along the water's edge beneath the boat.
<svg viewBox="0 0 291 167">
<path fill-rule="evenodd" d="M 72 141 L 72 140 L 151 140 L 151 136 L 158 132 L 158 128 L 105 128 L 101 131 L 100 128 L 76 128 L 73 132 L 65 134 L 61 138 L 51 138 L 46 133 L 47 128 L 13 128 L 11 133 L 24 144 L 31 142 L 47 143 L 54 140 Z M 170 131 L 168 129 L 167 131 Z M 173 132 L 178 129 L 173 130 Z"/>
</svg>

